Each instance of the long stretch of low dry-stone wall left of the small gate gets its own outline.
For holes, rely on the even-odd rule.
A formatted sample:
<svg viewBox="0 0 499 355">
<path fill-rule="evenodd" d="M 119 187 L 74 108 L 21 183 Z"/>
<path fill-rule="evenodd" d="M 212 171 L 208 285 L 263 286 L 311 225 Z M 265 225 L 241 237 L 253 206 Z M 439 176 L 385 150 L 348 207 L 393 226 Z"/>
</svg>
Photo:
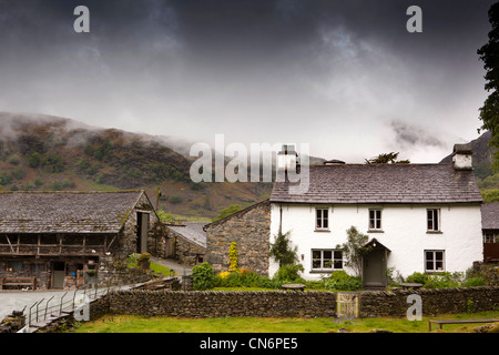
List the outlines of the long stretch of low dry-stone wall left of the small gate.
<svg viewBox="0 0 499 355">
<path fill-rule="evenodd" d="M 106 296 L 113 314 L 179 317 L 334 317 L 333 292 L 122 291 Z M 291 306 L 293 305 L 293 306 Z"/>
</svg>

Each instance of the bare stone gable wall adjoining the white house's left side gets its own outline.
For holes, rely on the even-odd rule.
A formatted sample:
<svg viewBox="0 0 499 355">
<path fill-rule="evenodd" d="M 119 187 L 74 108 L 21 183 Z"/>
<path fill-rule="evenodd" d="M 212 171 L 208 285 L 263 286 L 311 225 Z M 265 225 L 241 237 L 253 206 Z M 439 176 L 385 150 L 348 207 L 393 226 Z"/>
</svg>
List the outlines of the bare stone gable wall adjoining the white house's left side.
<svg viewBox="0 0 499 355">
<path fill-rule="evenodd" d="M 268 275 L 271 203 L 254 204 L 206 226 L 206 261 L 215 273 L 228 270 L 228 248 L 237 243 L 238 267 Z"/>
</svg>

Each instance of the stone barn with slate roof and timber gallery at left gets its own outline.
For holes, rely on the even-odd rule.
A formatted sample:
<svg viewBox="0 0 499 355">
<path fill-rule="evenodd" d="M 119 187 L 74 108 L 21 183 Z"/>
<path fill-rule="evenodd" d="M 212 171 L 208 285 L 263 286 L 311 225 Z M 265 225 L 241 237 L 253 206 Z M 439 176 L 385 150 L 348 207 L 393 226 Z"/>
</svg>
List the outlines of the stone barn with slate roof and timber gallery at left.
<svg viewBox="0 0 499 355">
<path fill-rule="evenodd" d="M 162 256 L 157 215 L 144 191 L 0 193 L 1 288 L 71 288 L 100 262 Z"/>
</svg>

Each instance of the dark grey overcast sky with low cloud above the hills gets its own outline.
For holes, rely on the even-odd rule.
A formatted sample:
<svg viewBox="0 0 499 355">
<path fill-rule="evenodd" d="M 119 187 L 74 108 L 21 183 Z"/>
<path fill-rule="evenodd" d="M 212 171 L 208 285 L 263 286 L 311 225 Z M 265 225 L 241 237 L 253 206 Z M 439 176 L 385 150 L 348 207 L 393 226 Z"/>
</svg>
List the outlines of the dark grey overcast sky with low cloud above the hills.
<svg viewBox="0 0 499 355">
<path fill-rule="evenodd" d="M 0 0 L 0 111 L 438 162 L 478 136 L 493 2 Z M 411 4 L 422 33 L 406 30 Z"/>
</svg>

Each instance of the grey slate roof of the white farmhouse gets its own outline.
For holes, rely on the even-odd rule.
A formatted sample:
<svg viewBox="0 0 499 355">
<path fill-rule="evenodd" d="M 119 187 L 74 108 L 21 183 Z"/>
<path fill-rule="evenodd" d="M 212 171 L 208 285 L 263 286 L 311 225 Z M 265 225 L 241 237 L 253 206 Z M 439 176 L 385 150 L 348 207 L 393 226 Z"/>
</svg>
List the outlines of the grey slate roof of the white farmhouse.
<svg viewBox="0 0 499 355">
<path fill-rule="evenodd" d="M 472 171 L 455 171 L 452 164 L 310 165 L 306 193 L 289 194 L 289 185 L 274 183 L 271 202 L 482 202 Z"/>
</svg>

